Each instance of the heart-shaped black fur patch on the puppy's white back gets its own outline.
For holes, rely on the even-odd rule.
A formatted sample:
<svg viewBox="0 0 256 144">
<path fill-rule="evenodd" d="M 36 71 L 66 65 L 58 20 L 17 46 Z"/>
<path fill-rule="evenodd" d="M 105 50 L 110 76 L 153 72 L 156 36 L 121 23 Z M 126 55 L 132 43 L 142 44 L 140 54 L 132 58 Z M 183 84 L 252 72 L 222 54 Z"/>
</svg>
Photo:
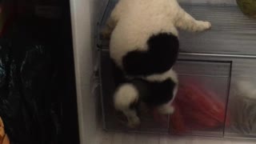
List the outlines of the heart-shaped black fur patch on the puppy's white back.
<svg viewBox="0 0 256 144">
<path fill-rule="evenodd" d="M 174 65 L 178 58 L 178 38 L 173 34 L 157 34 L 147 42 L 147 51 L 134 50 L 126 54 L 122 64 L 126 74 L 146 76 L 162 74 Z"/>
</svg>

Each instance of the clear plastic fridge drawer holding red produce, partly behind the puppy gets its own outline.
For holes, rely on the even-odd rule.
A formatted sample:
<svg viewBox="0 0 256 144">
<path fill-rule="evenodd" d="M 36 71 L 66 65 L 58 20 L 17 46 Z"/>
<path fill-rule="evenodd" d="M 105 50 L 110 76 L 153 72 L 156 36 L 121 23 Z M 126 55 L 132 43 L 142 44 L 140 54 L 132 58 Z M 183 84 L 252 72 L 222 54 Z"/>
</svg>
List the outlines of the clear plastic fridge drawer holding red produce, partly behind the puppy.
<svg viewBox="0 0 256 144">
<path fill-rule="evenodd" d="M 174 66 L 179 79 L 178 95 L 172 104 L 174 114 L 162 116 L 152 111 L 141 111 L 141 126 L 129 129 L 114 110 L 115 87 L 109 51 L 102 50 L 100 55 L 102 110 L 106 130 L 223 136 L 231 62 L 178 60 Z"/>
</svg>

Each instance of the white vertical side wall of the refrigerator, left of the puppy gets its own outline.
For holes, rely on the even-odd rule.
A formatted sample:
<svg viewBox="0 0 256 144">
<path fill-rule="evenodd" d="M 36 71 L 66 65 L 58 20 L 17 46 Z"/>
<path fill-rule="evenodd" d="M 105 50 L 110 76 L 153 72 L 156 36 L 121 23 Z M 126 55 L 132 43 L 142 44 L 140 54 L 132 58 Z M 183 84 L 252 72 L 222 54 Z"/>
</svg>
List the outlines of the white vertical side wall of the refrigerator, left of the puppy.
<svg viewBox="0 0 256 144">
<path fill-rule="evenodd" d="M 103 1 L 70 0 L 81 144 L 98 143 L 98 132 L 102 130 L 98 124 L 97 98 L 91 93 L 91 77 L 95 63 L 95 28 L 102 6 L 106 3 Z"/>
</svg>

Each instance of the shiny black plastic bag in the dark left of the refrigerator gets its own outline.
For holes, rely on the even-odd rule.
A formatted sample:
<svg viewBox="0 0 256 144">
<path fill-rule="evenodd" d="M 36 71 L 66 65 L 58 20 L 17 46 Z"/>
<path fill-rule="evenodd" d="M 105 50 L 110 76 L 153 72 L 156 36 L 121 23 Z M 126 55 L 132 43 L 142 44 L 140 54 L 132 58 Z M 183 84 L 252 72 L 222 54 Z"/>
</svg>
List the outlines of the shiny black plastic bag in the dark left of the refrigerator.
<svg viewBox="0 0 256 144">
<path fill-rule="evenodd" d="M 45 46 L 0 50 L 0 115 L 10 140 L 18 143 L 58 143 L 61 99 L 53 96 L 52 57 Z"/>
</svg>

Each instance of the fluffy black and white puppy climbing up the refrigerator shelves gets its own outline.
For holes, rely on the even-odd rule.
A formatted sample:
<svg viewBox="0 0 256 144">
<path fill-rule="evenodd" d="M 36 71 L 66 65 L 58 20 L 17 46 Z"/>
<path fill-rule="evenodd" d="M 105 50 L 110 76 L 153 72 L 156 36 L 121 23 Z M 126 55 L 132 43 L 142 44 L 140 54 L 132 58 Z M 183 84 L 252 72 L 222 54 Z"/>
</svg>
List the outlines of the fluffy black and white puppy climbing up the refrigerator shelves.
<svg viewBox="0 0 256 144">
<path fill-rule="evenodd" d="M 125 79 L 114 93 L 114 106 L 138 126 L 134 104 L 145 102 L 161 114 L 172 114 L 170 102 L 178 90 L 172 66 L 178 58 L 178 30 L 210 29 L 197 21 L 177 0 L 119 0 L 107 21 L 104 37 L 110 37 L 110 58 Z M 120 75 L 120 74 L 119 74 Z"/>
</svg>

